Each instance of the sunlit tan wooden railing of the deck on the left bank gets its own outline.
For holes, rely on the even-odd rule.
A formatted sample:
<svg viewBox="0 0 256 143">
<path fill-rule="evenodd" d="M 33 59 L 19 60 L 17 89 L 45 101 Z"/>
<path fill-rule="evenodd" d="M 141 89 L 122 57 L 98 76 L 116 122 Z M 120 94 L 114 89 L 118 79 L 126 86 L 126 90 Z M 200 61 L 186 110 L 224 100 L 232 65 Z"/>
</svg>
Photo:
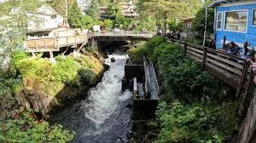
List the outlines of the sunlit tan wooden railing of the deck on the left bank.
<svg viewBox="0 0 256 143">
<path fill-rule="evenodd" d="M 87 43 L 87 35 L 69 37 L 36 38 L 26 41 L 27 52 L 59 51 L 61 47 L 76 48 L 80 43 Z"/>
</svg>

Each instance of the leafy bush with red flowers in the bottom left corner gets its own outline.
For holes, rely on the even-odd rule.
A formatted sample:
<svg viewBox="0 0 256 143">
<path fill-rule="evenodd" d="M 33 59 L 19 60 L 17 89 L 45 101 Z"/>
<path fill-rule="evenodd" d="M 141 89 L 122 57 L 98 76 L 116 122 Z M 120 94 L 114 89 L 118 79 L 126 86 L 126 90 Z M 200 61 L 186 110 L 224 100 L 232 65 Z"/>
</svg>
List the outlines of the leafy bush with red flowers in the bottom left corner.
<svg viewBox="0 0 256 143">
<path fill-rule="evenodd" d="M 7 120 L 0 120 L 0 142 L 69 142 L 74 132 L 63 129 L 61 124 L 50 126 L 38 120 L 32 112 L 16 112 Z"/>
</svg>

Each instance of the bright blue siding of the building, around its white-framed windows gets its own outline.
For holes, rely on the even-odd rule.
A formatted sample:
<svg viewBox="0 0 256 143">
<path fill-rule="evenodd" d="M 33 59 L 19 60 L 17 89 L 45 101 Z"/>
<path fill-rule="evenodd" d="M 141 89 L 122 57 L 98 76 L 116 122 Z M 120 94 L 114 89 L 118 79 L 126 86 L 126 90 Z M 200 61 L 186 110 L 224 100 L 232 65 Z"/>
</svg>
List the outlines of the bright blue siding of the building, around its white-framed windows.
<svg viewBox="0 0 256 143">
<path fill-rule="evenodd" d="M 225 12 L 230 10 L 245 10 L 245 9 L 248 10 L 247 31 L 246 32 L 224 31 Z M 224 36 L 226 36 L 227 41 L 233 41 L 235 43 L 245 43 L 246 41 L 248 41 L 251 47 L 256 47 L 256 26 L 253 26 L 253 9 L 256 9 L 256 3 L 216 8 L 217 13 L 221 11 L 223 12 L 222 30 L 216 29 L 215 31 L 216 46 L 218 49 L 222 48 L 223 46 L 223 44 L 221 43 L 221 40 L 224 39 Z"/>
</svg>

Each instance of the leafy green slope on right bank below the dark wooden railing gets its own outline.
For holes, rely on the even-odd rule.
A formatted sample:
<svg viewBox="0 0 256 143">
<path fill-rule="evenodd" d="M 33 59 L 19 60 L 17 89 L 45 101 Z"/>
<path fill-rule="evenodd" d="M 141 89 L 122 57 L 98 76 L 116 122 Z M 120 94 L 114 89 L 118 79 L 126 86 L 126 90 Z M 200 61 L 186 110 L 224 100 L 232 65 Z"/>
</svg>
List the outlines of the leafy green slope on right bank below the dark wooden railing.
<svg viewBox="0 0 256 143">
<path fill-rule="evenodd" d="M 140 57 L 145 54 L 160 75 L 164 91 L 156 112 L 160 132 L 155 142 L 220 143 L 230 139 L 239 108 L 232 98 L 234 89 L 201 70 L 199 63 L 183 55 L 181 47 L 163 37 L 154 37 L 128 54 L 135 63 L 142 63 Z"/>
</svg>

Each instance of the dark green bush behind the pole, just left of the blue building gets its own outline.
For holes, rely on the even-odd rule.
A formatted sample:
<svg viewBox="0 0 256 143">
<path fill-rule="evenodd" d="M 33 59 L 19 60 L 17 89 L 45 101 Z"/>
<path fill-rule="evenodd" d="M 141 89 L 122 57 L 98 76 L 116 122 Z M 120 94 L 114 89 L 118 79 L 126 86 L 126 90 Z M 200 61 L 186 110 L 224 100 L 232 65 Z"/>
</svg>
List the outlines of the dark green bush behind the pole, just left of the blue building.
<svg viewBox="0 0 256 143">
<path fill-rule="evenodd" d="M 203 35 L 205 30 L 206 21 L 206 9 L 200 9 L 197 14 L 195 14 L 195 19 L 192 21 L 192 30 L 199 32 L 199 35 Z M 214 23 L 214 10 L 207 9 L 207 32 L 213 32 Z"/>
</svg>

